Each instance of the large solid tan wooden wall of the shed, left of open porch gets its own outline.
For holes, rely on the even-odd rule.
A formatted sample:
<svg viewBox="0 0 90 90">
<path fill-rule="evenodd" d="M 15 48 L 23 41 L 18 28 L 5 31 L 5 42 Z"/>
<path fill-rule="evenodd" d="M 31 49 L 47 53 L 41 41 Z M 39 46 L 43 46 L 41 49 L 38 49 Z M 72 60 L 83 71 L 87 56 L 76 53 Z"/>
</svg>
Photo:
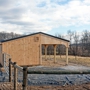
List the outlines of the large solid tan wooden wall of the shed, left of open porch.
<svg viewBox="0 0 90 90">
<path fill-rule="evenodd" d="M 40 64 L 40 34 L 27 36 L 2 43 L 2 52 L 9 54 L 18 65 Z"/>
</svg>

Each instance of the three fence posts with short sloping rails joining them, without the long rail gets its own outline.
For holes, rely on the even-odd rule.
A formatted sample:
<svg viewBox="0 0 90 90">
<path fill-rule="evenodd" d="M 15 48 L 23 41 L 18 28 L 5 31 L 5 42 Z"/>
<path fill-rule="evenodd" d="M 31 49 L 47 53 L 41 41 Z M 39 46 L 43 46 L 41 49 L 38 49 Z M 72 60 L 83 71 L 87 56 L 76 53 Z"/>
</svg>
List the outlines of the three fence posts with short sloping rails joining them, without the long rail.
<svg viewBox="0 0 90 90">
<path fill-rule="evenodd" d="M 23 72 L 23 90 L 27 90 L 27 67 L 20 67 L 9 59 L 9 82 L 12 82 L 12 66 L 14 67 L 14 90 L 17 90 L 17 69 Z"/>
</svg>

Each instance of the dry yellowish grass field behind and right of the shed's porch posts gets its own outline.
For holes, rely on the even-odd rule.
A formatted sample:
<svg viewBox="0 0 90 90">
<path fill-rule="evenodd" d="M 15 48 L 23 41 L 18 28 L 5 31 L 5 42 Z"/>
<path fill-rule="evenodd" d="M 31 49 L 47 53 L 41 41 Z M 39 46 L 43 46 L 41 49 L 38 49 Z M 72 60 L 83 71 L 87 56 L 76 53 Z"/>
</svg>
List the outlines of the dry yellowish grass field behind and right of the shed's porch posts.
<svg viewBox="0 0 90 90">
<path fill-rule="evenodd" d="M 64 66 L 66 65 L 66 56 L 62 55 L 61 57 L 59 55 L 56 56 L 57 62 L 54 63 L 54 56 L 53 55 L 47 55 L 47 60 L 44 58 L 45 56 L 42 56 L 43 59 L 43 65 L 44 66 Z M 84 66 L 90 66 L 90 57 L 80 57 L 80 56 L 68 56 L 69 64 L 78 64 L 78 65 L 84 65 Z"/>
</svg>

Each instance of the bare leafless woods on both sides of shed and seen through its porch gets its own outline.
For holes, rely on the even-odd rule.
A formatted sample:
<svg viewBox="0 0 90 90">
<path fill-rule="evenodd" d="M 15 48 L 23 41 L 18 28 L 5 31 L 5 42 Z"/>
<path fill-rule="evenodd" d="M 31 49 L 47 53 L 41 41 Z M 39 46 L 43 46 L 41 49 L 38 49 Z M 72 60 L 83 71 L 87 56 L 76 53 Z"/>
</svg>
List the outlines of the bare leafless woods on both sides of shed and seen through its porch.
<svg viewBox="0 0 90 90">
<path fill-rule="evenodd" d="M 16 38 L 22 36 L 21 34 L 16 34 L 13 32 L 7 33 L 7 32 L 0 32 L 0 41 L 7 40 L 11 38 Z M 88 30 L 84 30 L 81 33 L 77 33 L 75 31 L 68 30 L 67 34 L 65 36 L 56 33 L 56 37 L 59 38 L 66 38 L 70 40 L 69 45 L 69 55 L 74 56 L 90 56 L 90 32 Z M 49 45 L 47 48 L 47 54 L 53 55 L 53 46 Z M 64 45 L 57 45 L 57 55 L 65 55 L 65 46 Z M 44 47 L 42 47 L 42 53 L 44 54 Z"/>
</svg>

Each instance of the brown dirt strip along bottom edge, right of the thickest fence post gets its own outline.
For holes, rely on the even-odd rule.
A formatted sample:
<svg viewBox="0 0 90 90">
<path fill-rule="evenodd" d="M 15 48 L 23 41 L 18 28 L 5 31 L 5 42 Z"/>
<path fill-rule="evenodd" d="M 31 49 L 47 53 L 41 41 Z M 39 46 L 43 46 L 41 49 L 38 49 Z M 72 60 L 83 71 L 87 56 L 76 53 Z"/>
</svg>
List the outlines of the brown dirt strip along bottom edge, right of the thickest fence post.
<svg viewBox="0 0 90 90">
<path fill-rule="evenodd" d="M 90 83 L 72 86 L 29 86 L 28 90 L 90 90 Z"/>
</svg>

